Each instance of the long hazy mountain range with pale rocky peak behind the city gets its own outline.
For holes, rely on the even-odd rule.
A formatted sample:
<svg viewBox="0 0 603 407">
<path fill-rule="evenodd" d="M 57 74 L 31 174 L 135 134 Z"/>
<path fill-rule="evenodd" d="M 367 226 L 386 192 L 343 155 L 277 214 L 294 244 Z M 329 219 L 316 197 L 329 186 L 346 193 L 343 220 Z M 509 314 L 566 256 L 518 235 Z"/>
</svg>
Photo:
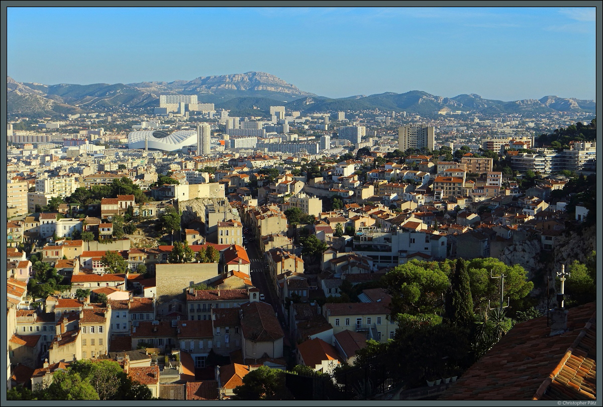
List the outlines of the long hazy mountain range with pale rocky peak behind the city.
<svg viewBox="0 0 603 407">
<path fill-rule="evenodd" d="M 594 100 L 545 96 L 540 100 L 488 100 L 476 94 L 446 98 L 423 91 L 402 94 L 385 92 L 375 95 L 355 95 L 346 98 L 327 98 L 300 91 L 297 86 L 267 74 L 244 74 L 198 77 L 174 82 L 95 83 L 92 85 L 42 85 L 21 83 L 7 77 L 8 114 L 58 114 L 84 112 L 95 109 L 150 108 L 159 106 L 159 95 L 197 95 L 203 103 L 214 103 L 216 108 L 229 109 L 233 114 L 247 115 L 261 112 L 267 115 L 270 106 L 286 104 L 292 111 L 304 113 L 336 111 L 406 111 L 432 115 L 448 107 L 451 111 L 467 113 L 545 113 L 582 111 L 594 113 Z"/>
</svg>

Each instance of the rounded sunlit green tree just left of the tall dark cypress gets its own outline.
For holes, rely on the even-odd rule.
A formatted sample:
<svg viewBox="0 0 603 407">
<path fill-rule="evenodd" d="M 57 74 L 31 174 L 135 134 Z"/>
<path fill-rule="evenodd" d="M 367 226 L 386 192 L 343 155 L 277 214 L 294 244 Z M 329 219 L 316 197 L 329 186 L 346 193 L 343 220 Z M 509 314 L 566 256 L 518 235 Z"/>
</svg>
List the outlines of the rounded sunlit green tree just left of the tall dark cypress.
<svg viewBox="0 0 603 407">
<path fill-rule="evenodd" d="M 391 315 L 440 313 L 443 295 L 449 287 L 447 275 L 437 261 L 411 260 L 385 274 L 392 296 Z"/>
</svg>

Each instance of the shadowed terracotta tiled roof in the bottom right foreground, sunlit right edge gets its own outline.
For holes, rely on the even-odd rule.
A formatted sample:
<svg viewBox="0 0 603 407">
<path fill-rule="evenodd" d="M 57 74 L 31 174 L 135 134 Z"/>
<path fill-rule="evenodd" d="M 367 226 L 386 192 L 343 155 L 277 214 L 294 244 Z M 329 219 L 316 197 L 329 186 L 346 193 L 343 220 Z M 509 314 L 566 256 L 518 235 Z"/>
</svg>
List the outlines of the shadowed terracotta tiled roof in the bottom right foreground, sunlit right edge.
<svg viewBox="0 0 603 407">
<path fill-rule="evenodd" d="M 440 400 L 592 400 L 595 310 L 569 309 L 561 335 L 550 336 L 546 316 L 516 324 Z"/>
</svg>

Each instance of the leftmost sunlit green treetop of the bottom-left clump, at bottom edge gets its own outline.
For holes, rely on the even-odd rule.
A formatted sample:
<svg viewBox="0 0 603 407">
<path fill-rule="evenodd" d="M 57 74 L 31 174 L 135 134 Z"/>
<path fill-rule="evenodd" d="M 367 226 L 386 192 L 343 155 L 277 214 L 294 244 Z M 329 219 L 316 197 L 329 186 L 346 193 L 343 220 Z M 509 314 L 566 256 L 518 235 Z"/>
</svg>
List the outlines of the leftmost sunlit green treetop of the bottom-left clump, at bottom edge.
<svg viewBox="0 0 603 407">
<path fill-rule="evenodd" d="M 37 394 L 39 400 L 100 400 L 95 388 L 71 370 L 55 372 L 52 383 Z"/>
</svg>

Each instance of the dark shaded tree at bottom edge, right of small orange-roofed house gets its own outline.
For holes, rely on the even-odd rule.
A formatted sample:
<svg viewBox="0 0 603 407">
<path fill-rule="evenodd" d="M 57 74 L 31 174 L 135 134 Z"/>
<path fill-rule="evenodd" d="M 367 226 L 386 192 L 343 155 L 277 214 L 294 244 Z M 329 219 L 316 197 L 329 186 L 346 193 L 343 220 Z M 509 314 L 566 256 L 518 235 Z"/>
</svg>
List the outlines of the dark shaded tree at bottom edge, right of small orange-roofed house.
<svg viewBox="0 0 603 407">
<path fill-rule="evenodd" d="M 233 389 L 236 400 L 285 399 L 285 372 L 260 366 L 243 376 L 243 384 Z"/>
</svg>

